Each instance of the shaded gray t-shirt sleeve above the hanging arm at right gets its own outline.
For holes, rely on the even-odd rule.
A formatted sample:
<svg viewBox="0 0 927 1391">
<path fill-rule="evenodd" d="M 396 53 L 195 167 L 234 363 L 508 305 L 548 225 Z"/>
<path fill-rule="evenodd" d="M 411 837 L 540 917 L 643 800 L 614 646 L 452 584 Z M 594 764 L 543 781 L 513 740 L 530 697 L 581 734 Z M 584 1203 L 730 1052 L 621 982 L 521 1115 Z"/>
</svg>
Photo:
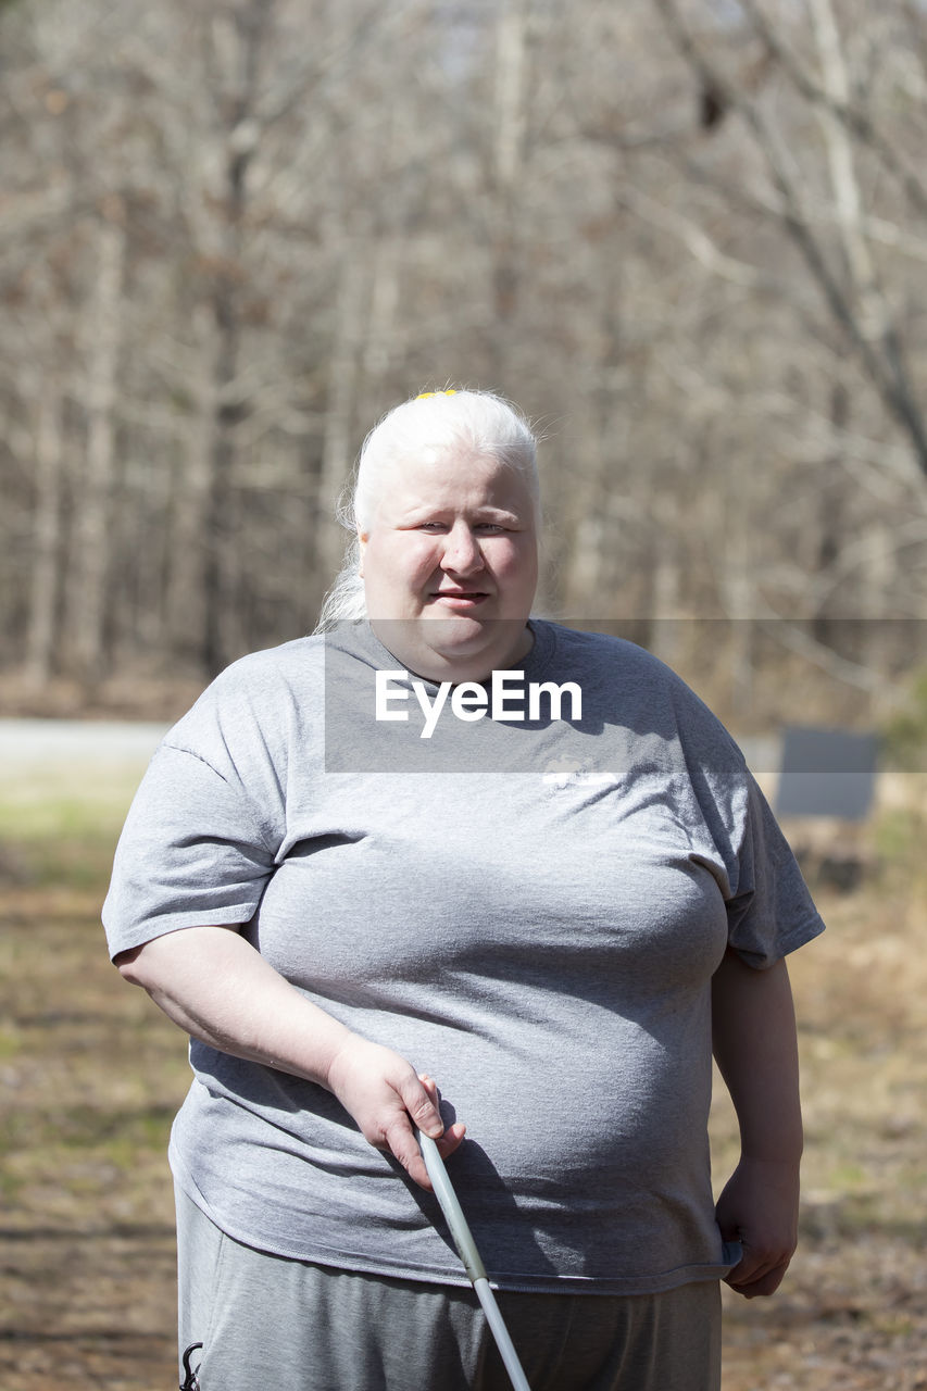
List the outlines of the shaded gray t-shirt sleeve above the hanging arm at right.
<svg viewBox="0 0 927 1391">
<path fill-rule="evenodd" d="M 728 942 L 747 965 L 764 970 L 816 938 L 824 924 L 766 797 L 746 776 Z"/>
</svg>

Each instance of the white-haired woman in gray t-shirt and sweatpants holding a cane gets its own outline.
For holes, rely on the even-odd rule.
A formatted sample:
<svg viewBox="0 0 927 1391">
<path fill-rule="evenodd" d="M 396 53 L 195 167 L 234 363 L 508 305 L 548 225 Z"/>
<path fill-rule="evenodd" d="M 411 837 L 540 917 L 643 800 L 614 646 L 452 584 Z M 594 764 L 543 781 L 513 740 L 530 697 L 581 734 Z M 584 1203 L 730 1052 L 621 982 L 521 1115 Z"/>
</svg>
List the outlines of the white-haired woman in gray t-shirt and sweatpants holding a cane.
<svg viewBox="0 0 927 1391">
<path fill-rule="evenodd" d="M 398 406 L 352 522 L 324 637 L 235 664 L 164 740 L 104 911 L 192 1038 L 181 1348 L 203 1391 L 505 1387 L 420 1128 L 536 1391 L 711 1391 L 718 1281 L 768 1295 L 795 1248 L 784 957 L 821 922 L 683 683 L 529 620 L 511 406 Z M 717 1209 L 713 1046 L 742 1134 Z"/>
</svg>

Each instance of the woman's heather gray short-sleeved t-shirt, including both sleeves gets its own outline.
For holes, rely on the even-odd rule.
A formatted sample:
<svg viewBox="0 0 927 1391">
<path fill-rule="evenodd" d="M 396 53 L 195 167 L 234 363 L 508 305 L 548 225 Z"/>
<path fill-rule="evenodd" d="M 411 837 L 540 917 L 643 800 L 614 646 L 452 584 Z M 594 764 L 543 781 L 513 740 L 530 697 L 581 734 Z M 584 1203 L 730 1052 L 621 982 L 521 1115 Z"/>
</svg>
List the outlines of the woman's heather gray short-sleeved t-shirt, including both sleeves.
<svg viewBox="0 0 927 1391">
<path fill-rule="evenodd" d="M 697 697 L 629 643 L 532 629 L 525 682 L 576 683 L 579 718 L 444 709 L 423 739 L 393 677 L 409 718 L 374 722 L 376 673 L 401 664 L 367 625 L 234 664 L 154 755 L 104 922 L 113 954 L 241 924 L 434 1077 L 468 1125 L 448 1167 L 496 1284 L 644 1294 L 738 1256 L 713 1216 L 711 975 L 728 943 L 763 968 L 823 924 Z M 328 1092 L 199 1042 L 191 1061 L 171 1164 L 219 1227 L 466 1283 L 436 1200 Z"/>
</svg>

